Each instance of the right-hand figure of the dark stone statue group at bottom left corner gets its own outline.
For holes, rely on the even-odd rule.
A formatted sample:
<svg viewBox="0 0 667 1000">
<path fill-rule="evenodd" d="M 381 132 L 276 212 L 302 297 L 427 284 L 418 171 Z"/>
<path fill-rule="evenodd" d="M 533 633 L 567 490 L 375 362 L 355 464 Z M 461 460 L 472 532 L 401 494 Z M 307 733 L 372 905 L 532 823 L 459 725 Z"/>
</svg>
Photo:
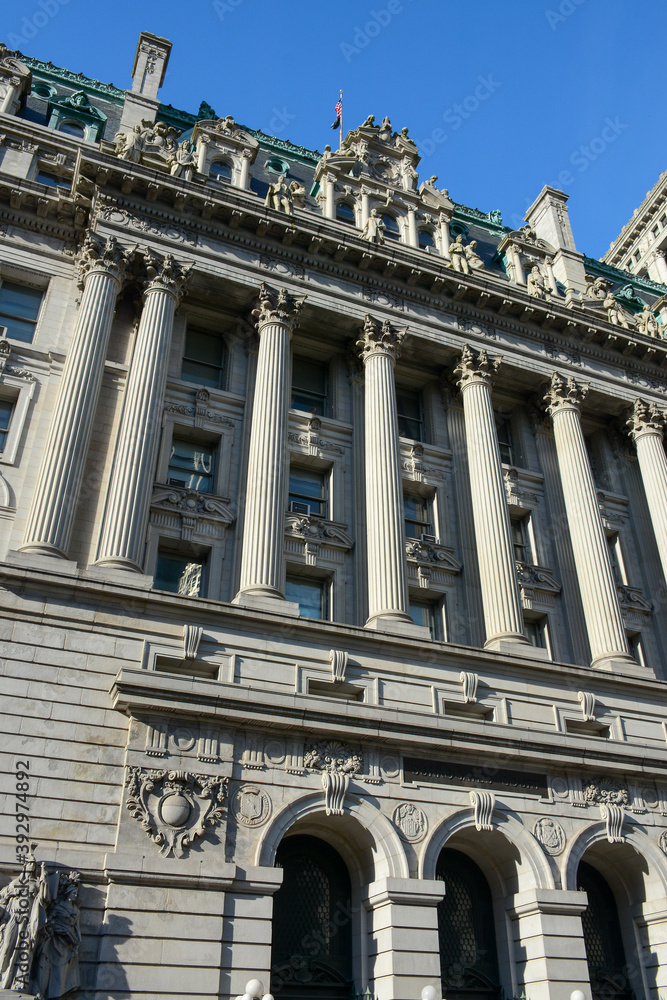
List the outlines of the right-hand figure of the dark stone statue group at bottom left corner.
<svg viewBox="0 0 667 1000">
<path fill-rule="evenodd" d="M 79 978 L 79 873 L 51 876 L 55 898 L 39 932 L 33 960 L 32 990 L 43 1000 L 57 1000 L 78 989 Z"/>
</svg>

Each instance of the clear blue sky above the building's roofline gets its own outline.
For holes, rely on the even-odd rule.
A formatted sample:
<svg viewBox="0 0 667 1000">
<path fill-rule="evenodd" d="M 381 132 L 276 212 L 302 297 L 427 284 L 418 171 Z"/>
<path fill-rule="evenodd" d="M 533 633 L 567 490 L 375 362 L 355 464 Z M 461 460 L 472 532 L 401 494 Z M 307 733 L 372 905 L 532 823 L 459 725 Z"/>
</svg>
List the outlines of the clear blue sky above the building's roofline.
<svg viewBox="0 0 667 1000">
<path fill-rule="evenodd" d="M 667 169 L 666 19 L 664 0 L 18 0 L 0 37 L 125 88 L 153 31 L 174 45 L 163 101 L 320 150 L 343 88 L 345 129 L 407 126 L 454 201 L 516 226 L 562 188 L 599 256 Z"/>
</svg>

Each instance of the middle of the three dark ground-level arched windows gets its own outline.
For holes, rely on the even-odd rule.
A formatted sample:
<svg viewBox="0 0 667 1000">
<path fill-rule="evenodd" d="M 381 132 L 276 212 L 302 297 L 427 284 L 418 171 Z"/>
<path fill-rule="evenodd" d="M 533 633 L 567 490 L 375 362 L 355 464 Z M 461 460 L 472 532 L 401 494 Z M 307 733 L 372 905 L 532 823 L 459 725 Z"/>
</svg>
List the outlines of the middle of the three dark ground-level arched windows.
<svg viewBox="0 0 667 1000">
<path fill-rule="evenodd" d="M 493 904 L 484 875 L 465 854 L 445 847 L 436 877 L 446 886 L 438 903 L 443 995 L 447 1000 L 498 1000 Z"/>
</svg>

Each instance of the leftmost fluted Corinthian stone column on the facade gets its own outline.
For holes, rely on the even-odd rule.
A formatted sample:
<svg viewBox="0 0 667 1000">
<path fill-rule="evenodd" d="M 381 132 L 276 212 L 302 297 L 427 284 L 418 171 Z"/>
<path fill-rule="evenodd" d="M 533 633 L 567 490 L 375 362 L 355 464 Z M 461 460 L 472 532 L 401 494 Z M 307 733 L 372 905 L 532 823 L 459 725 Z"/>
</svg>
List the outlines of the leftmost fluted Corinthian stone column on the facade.
<svg viewBox="0 0 667 1000">
<path fill-rule="evenodd" d="M 104 374 L 118 292 L 133 253 L 88 234 L 81 303 L 37 476 L 22 551 L 66 558 Z"/>
</svg>

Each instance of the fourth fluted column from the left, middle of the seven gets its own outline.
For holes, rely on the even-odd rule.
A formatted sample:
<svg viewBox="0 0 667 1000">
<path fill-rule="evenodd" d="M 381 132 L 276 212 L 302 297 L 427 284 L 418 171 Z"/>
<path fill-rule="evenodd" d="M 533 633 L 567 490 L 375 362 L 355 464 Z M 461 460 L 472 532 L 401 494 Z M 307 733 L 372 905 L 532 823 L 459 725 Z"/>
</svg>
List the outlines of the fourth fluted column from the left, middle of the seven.
<svg viewBox="0 0 667 1000">
<path fill-rule="evenodd" d="M 405 330 L 366 316 L 357 348 L 364 363 L 367 628 L 417 634 L 408 613 L 405 512 L 394 365 Z M 420 628 L 419 634 L 426 630 Z"/>
</svg>

